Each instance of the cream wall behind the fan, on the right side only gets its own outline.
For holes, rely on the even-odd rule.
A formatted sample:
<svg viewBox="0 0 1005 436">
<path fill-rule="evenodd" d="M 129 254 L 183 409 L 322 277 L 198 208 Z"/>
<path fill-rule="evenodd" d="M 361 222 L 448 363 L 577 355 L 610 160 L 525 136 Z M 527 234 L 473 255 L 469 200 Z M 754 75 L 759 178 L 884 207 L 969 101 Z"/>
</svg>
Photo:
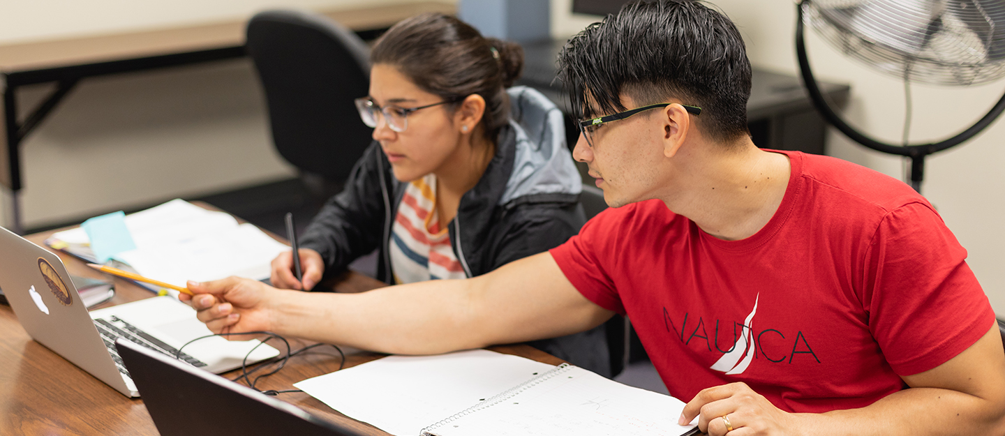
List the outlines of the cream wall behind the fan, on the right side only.
<svg viewBox="0 0 1005 436">
<path fill-rule="evenodd" d="M 553 0 L 553 34 L 568 36 L 595 18 L 572 16 L 570 0 Z M 796 6 L 791 0 L 713 0 L 732 18 L 758 67 L 795 75 Z M 807 51 L 819 78 L 851 85 L 843 111 L 852 126 L 881 141 L 899 143 L 904 90 L 888 78 L 851 61 L 812 31 Z M 910 142 L 935 142 L 970 127 L 1001 97 L 1005 80 L 972 87 L 912 85 L 914 116 Z M 828 154 L 906 180 L 899 158 L 872 152 L 841 134 L 828 136 Z M 997 121 L 979 137 L 929 157 L 922 192 L 969 250 L 968 263 L 991 304 L 1005 315 L 1005 123 Z"/>
</svg>

